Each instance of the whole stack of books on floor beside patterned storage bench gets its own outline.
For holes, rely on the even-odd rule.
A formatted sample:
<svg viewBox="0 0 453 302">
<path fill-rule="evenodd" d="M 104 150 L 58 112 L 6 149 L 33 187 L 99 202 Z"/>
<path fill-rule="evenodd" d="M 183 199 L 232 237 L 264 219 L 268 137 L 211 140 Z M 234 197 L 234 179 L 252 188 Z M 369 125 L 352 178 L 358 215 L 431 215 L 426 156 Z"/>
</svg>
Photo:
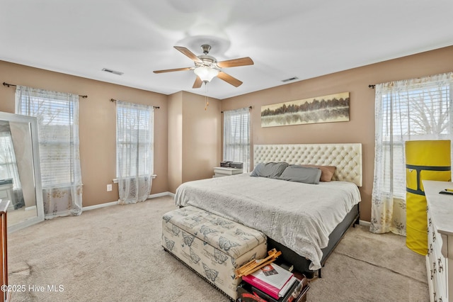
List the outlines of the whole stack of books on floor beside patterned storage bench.
<svg viewBox="0 0 453 302">
<path fill-rule="evenodd" d="M 238 289 L 239 297 L 241 291 L 245 294 L 241 301 L 298 302 L 309 288 L 306 279 L 299 280 L 292 272 L 274 263 L 242 276 L 242 281 L 246 284 Z"/>
</svg>

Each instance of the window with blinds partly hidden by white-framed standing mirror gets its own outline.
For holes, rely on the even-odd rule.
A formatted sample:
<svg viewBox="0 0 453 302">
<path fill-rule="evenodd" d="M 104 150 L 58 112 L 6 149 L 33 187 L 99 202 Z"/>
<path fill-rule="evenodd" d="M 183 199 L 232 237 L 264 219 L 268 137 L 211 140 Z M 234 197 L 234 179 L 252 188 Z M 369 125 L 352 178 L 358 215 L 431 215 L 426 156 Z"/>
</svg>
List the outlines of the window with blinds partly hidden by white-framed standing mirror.
<svg viewBox="0 0 453 302">
<path fill-rule="evenodd" d="M 16 113 L 37 118 L 42 188 L 81 184 L 79 96 L 18 86 Z"/>
</svg>

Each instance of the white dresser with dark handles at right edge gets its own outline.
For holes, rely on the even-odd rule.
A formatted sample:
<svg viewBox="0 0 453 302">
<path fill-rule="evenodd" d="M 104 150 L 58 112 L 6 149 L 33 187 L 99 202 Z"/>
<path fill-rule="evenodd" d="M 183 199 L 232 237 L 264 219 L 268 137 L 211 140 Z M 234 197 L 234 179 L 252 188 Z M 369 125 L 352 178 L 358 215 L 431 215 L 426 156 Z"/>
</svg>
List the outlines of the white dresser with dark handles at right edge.
<svg viewBox="0 0 453 302">
<path fill-rule="evenodd" d="M 453 183 L 424 180 L 423 187 L 428 203 L 426 270 L 430 301 L 453 302 L 453 195 L 439 194 L 453 189 Z"/>
</svg>

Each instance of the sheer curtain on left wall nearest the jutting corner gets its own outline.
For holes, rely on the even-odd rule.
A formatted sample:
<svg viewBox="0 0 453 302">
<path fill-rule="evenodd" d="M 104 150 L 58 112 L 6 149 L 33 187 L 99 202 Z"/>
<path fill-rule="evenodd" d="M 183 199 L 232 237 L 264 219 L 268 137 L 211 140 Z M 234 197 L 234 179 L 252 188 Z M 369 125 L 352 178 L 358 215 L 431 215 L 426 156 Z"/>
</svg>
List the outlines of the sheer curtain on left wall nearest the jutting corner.
<svg viewBox="0 0 453 302">
<path fill-rule="evenodd" d="M 145 201 L 154 169 L 153 106 L 116 101 L 120 204 Z"/>
</svg>

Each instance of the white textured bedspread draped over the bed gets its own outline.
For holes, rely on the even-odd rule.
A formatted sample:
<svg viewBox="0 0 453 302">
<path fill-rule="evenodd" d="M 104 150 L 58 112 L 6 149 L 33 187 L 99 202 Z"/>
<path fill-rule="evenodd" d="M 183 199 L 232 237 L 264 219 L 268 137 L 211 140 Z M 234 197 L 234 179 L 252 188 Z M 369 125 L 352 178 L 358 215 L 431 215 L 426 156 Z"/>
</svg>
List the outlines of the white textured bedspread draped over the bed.
<svg viewBox="0 0 453 302">
<path fill-rule="evenodd" d="M 359 202 L 350 182 L 302 184 L 250 174 L 188 181 L 175 196 L 177 206 L 196 206 L 262 231 L 310 259 L 311 270 L 321 268 L 328 235 Z"/>
</svg>

